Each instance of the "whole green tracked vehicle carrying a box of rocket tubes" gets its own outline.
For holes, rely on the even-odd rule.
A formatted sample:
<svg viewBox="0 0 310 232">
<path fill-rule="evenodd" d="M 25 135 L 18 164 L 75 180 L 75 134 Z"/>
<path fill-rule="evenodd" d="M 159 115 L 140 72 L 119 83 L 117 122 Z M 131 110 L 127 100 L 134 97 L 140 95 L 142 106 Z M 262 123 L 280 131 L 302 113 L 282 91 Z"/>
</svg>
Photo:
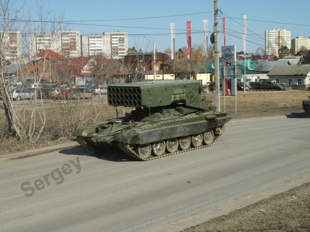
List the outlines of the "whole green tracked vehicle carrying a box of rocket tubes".
<svg viewBox="0 0 310 232">
<path fill-rule="evenodd" d="M 199 80 L 108 85 L 108 104 L 133 107 L 117 117 L 73 131 L 82 146 L 103 154 L 117 148 L 148 161 L 213 145 L 231 117 L 202 99 Z"/>
</svg>

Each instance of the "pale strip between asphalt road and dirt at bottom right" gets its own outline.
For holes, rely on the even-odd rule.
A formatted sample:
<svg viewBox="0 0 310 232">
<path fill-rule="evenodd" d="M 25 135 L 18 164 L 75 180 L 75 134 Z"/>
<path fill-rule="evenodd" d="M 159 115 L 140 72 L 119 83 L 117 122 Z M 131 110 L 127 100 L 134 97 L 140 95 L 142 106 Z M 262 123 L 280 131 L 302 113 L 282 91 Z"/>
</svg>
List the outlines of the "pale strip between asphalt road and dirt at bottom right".
<svg viewBox="0 0 310 232">
<path fill-rule="evenodd" d="M 229 200 L 222 204 L 215 205 L 200 212 L 180 218 L 176 221 L 169 222 L 155 229 L 148 230 L 148 232 L 179 232 L 180 230 L 184 230 L 190 226 L 200 224 L 212 218 L 232 212 L 236 209 L 243 208 L 247 205 L 266 199 L 272 195 L 284 192 L 309 181 L 310 172 L 306 172 L 290 179 L 281 181 L 275 186 L 269 186 L 267 188 L 243 195 L 241 197 L 237 197 L 233 200 Z"/>
</svg>

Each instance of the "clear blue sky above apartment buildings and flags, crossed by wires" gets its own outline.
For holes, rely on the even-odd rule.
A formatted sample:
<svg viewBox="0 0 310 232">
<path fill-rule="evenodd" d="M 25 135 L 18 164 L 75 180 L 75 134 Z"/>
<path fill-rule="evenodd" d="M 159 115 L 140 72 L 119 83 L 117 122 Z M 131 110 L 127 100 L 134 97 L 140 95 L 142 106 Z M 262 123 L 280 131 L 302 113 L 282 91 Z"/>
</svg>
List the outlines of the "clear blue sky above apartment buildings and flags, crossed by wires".
<svg viewBox="0 0 310 232">
<path fill-rule="evenodd" d="M 240 0 L 219 0 L 219 9 L 229 17 L 242 18 L 243 15 L 247 15 L 248 19 L 259 19 L 266 21 L 275 21 L 282 23 L 292 24 L 310 24 L 306 20 L 306 12 L 310 9 L 310 1 L 299 0 L 298 4 L 293 4 L 294 1 L 282 0 L 282 1 L 240 1 Z M 16 5 L 22 4 L 23 1 L 17 0 Z M 60 11 L 64 12 L 65 20 L 103 20 L 103 19 L 128 19 L 128 18 L 144 18 L 144 17 L 156 17 L 156 16 L 168 16 L 168 15 L 182 15 L 192 14 L 199 12 L 213 11 L 213 0 L 198 0 L 198 1 L 80 1 L 80 0 L 51 0 L 45 1 L 46 7 L 50 4 L 51 10 L 56 13 Z M 36 2 L 34 0 L 28 0 L 25 3 L 24 9 L 29 9 L 32 17 L 36 19 Z M 222 17 L 225 15 L 223 14 Z M 91 25 L 68 25 L 67 29 L 79 29 L 82 34 L 102 34 L 104 31 L 127 31 L 128 46 L 132 47 L 136 44 L 145 49 L 146 43 L 143 36 L 131 36 L 134 34 L 159 34 L 169 33 L 169 23 L 175 23 L 175 29 L 186 30 L 186 21 L 192 21 L 192 30 L 203 30 L 202 19 L 208 19 L 208 29 L 212 30 L 214 19 L 213 12 L 196 15 L 184 15 L 157 19 L 133 19 L 133 20 L 117 20 L 117 21 L 98 21 L 98 22 L 78 22 L 86 24 L 100 24 L 110 26 L 91 26 Z M 235 19 L 238 23 L 243 25 L 242 19 Z M 221 26 L 221 20 L 219 21 Z M 116 27 L 121 26 L 121 27 Z M 163 29 L 145 29 L 145 28 L 128 28 L 133 27 L 147 27 L 147 28 L 166 28 Z M 264 49 L 264 32 L 265 30 L 271 30 L 272 28 L 280 28 L 291 31 L 291 36 L 296 37 L 298 35 L 303 37 L 310 37 L 309 26 L 298 25 L 286 25 L 277 23 L 266 23 L 250 21 L 247 22 L 247 33 L 258 34 L 254 37 L 247 36 L 246 50 L 247 52 L 255 52 L 257 48 L 262 47 Z M 242 38 L 243 27 L 232 19 L 226 16 L 226 31 L 231 33 L 234 30 L 238 33 L 232 33 L 237 37 Z M 250 30 L 252 32 L 250 32 Z M 176 31 L 178 32 L 178 31 Z M 180 31 L 183 32 L 183 31 Z M 254 33 L 253 33 L 254 32 Z M 210 35 L 210 33 L 209 33 Z M 262 38 L 261 38 L 262 37 Z M 148 40 L 156 42 L 157 51 L 162 51 L 170 47 L 170 35 L 164 36 L 148 36 Z M 142 41 L 144 40 L 144 44 Z M 192 44 L 200 44 L 204 40 L 203 33 L 192 34 Z M 260 45 L 251 43 L 256 42 Z M 219 36 L 220 46 L 224 43 L 223 34 Z M 208 41 L 210 44 L 210 40 Z M 243 50 L 242 40 L 239 38 L 226 35 L 226 45 L 237 45 L 237 51 Z M 186 35 L 176 35 L 175 47 L 176 49 L 187 46 Z"/>
</svg>

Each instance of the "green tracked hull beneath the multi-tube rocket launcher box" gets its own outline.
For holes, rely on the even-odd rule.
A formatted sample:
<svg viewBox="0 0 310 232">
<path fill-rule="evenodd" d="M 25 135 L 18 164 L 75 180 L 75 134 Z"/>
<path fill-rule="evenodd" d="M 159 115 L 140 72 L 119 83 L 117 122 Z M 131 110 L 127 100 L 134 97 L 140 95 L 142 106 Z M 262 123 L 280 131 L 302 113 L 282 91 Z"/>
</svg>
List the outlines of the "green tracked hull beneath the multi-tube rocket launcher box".
<svg viewBox="0 0 310 232">
<path fill-rule="evenodd" d="M 231 116 L 226 113 L 208 111 L 184 115 L 174 120 L 135 122 L 135 126 L 130 125 L 134 124 L 129 123 L 130 117 L 118 119 L 122 120 L 122 122 L 112 122 L 110 126 L 116 129 L 124 127 L 122 131 L 119 131 L 117 134 L 104 136 L 96 135 L 96 126 L 100 126 L 100 123 L 97 123 L 97 125 L 80 127 L 73 132 L 73 135 L 77 136 L 79 144 L 98 154 L 104 154 L 105 150 L 116 148 L 124 151 L 137 160 L 147 161 L 213 145 L 223 134 L 224 125 L 230 121 Z M 109 120 L 105 122 L 109 122 Z M 107 130 L 110 130 L 110 128 L 107 128 Z M 136 153 L 136 147 L 141 144 L 154 144 L 157 141 L 169 141 L 169 139 L 174 138 L 179 140 L 184 136 L 203 134 L 206 131 L 212 131 L 214 134 L 214 140 L 210 144 L 202 143 L 197 147 L 192 144 L 187 149 L 177 149 L 174 152 L 166 150 L 160 156 L 152 154 L 149 157 L 141 157 Z"/>
</svg>

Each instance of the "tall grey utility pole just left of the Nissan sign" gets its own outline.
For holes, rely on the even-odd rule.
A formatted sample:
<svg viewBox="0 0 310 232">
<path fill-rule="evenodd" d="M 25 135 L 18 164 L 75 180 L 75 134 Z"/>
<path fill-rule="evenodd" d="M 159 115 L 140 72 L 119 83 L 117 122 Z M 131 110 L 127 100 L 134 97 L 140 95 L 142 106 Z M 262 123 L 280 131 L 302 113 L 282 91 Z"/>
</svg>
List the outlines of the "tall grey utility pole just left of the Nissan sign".
<svg viewBox="0 0 310 232">
<path fill-rule="evenodd" d="M 215 106 L 220 109 L 219 100 L 219 21 L 218 21 L 218 0 L 214 0 L 214 45 L 215 45 Z"/>
</svg>

